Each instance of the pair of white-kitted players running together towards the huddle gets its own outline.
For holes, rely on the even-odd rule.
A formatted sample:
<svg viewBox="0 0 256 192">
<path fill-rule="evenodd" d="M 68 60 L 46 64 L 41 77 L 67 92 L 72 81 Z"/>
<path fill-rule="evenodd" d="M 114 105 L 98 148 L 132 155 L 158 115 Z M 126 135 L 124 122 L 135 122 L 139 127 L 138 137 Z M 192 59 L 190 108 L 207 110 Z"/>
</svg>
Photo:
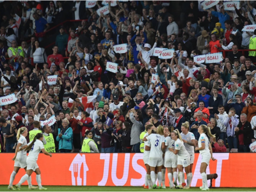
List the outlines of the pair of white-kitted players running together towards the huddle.
<svg viewBox="0 0 256 192">
<path fill-rule="evenodd" d="M 44 149 L 44 135 L 42 133 L 37 133 L 35 138 L 33 138 L 33 140 L 28 144 L 26 136 L 28 136 L 28 129 L 26 127 L 21 127 L 17 132 L 17 146 L 15 149 L 15 156 L 12 159 L 15 162 L 14 170 L 10 177 L 8 189 L 15 190 L 16 188 L 20 190 L 21 184 L 28 180 L 29 189 L 39 188 L 40 190 L 46 190 L 47 188 L 44 188 L 41 184 L 41 172 L 36 161 L 41 151 L 50 157 L 52 157 L 52 154 L 49 154 Z M 29 151 L 28 157 L 27 151 Z M 15 188 L 13 188 L 13 180 L 15 179 L 15 175 L 19 172 L 20 168 L 24 168 L 26 170 L 26 174 L 20 179 L 19 183 L 15 185 Z M 36 173 L 36 182 L 38 187 L 32 186 L 31 184 L 31 174 L 33 172 Z"/>
</svg>

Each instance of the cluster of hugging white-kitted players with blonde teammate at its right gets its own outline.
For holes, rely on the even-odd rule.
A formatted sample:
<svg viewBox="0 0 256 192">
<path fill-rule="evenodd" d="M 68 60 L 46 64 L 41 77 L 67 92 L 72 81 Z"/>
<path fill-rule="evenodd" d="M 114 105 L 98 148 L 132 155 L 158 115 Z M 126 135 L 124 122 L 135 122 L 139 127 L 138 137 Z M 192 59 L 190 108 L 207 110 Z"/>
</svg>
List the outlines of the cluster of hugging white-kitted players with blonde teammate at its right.
<svg viewBox="0 0 256 192">
<path fill-rule="evenodd" d="M 172 126 L 157 128 L 152 124 L 145 125 L 146 131 L 143 137 L 144 153 L 143 161 L 147 169 L 145 177 L 145 188 L 156 189 L 156 178 L 158 179 L 159 188 L 165 186 L 165 172 L 167 168 L 170 188 L 172 189 L 189 189 L 193 177 L 192 168 L 195 159 L 195 150 L 199 151 L 202 156 L 200 173 L 202 175 L 202 191 L 208 191 L 206 168 L 212 157 L 212 147 L 208 137 L 215 137 L 211 134 L 211 129 L 206 125 L 200 125 L 198 132 L 200 138 L 198 145 L 195 143 L 195 136 L 189 132 L 189 123 L 182 124 L 180 134 L 178 129 L 173 130 Z M 194 146 L 195 150 L 194 150 Z M 184 172 L 187 175 L 187 184 L 184 179 Z M 179 174 L 177 173 L 179 171 Z M 179 178 L 179 185 L 177 179 Z"/>
</svg>

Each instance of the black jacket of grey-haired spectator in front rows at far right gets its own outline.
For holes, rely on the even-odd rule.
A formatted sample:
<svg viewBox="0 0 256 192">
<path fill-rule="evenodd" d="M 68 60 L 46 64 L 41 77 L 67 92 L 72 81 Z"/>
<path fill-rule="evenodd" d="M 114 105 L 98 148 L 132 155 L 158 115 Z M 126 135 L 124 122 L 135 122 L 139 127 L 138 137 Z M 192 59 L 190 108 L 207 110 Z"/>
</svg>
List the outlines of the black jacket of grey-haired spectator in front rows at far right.
<svg viewBox="0 0 256 192">
<path fill-rule="evenodd" d="M 244 129 L 241 130 L 242 123 L 239 122 L 237 127 L 239 128 L 239 131 L 236 131 L 235 134 L 239 140 L 239 134 L 244 134 L 244 145 L 250 145 L 252 143 L 252 138 L 253 138 L 253 130 L 252 130 L 252 125 L 250 122 L 246 121 L 244 124 Z"/>
</svg>

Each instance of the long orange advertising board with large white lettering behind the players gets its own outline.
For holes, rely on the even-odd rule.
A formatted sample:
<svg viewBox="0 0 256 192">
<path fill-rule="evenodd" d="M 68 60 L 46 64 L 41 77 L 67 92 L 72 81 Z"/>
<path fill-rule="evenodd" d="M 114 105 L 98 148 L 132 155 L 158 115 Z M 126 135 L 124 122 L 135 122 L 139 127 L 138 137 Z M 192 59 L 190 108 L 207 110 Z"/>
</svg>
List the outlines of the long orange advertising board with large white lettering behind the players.
<svg viewBox="0 0 256 192">
<path fill-rule="evenodd" d="M 256 172 L 256 154 L 215 153 L 216 161 L 210 161 L 207 173 L 217 173 L 213 187 L 255 188 L 251 175 Z M 0 154 L 0 185 L 8 185 L 13 171 L 13 154 Z M 44 186 L 143 186 L 145 166 L 143 154 L 40 154 L 38 166 Z M 202 186 L 200 175 L 200 154 L 195 154 L 192 187 Z M 16 175 L 17 184 L 24 175 L 24 169 Z M 186 174 L 185 174 L 186 175 Z M 166 186 L 168 177 L 166 172 Z M 209 182 L 209 180 L 208 180 Z M 24 183 L 27 185 L 27 182 Z M 36 185 L 35 173 L 32 184 Z"/>
</svg>

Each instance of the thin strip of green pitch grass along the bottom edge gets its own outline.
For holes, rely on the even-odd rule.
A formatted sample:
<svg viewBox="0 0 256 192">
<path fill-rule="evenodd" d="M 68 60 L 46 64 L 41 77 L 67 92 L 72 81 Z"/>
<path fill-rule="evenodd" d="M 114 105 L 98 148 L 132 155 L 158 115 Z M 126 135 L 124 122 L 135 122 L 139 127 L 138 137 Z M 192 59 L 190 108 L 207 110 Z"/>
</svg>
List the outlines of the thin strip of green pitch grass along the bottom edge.
<svg viewBox="0 0 256 192">
<path fill-rule="evenodd" d="M 44 186 L 47 191 L 201 191 L 199 188 L 190 189 L 143 189 L 143 187 L 101 187 L 101 186 Z M 0 186 L 0 191 L 11 191 L 7 186 Z M 20 191 L 29 190 L 28 186 L 22 186 Z M 256 191 L 256 188 L 212 188 L 210 191 Z"/>
</svg>

